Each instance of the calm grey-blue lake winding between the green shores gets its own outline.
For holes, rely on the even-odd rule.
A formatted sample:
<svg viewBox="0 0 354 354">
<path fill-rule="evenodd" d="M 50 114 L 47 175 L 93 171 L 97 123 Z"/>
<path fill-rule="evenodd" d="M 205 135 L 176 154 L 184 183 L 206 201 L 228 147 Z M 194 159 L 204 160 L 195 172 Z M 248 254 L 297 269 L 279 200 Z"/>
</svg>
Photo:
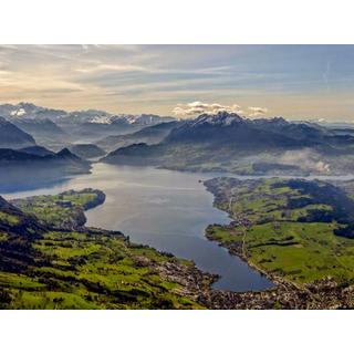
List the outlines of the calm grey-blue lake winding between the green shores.
<svg viewBox="0 0 354 354">
<path fill-rule="evenodd" d="M 199 183 L 216 174 L 195 174 L 152 167 L 94 164 L 92 174 L 66 180 L 31 181 L 31 189 L 17 180 L 8 199 L 67 189 L 98 188 L 106 201 L 86 212 L 87 226 L 119 230 L 137 243 L 195 261 L 204 271 L 219 274 L 216 289 L 264 290 L 272 283 L 223 248 L 205 238 L 209 223 L 228 223 L 228 215 L 212 207 L 214 196 Z M 14 188 L 13 188 L 14 187 Z M 14 189 L 18 189 L 14 191 Z"/>
</svg>

